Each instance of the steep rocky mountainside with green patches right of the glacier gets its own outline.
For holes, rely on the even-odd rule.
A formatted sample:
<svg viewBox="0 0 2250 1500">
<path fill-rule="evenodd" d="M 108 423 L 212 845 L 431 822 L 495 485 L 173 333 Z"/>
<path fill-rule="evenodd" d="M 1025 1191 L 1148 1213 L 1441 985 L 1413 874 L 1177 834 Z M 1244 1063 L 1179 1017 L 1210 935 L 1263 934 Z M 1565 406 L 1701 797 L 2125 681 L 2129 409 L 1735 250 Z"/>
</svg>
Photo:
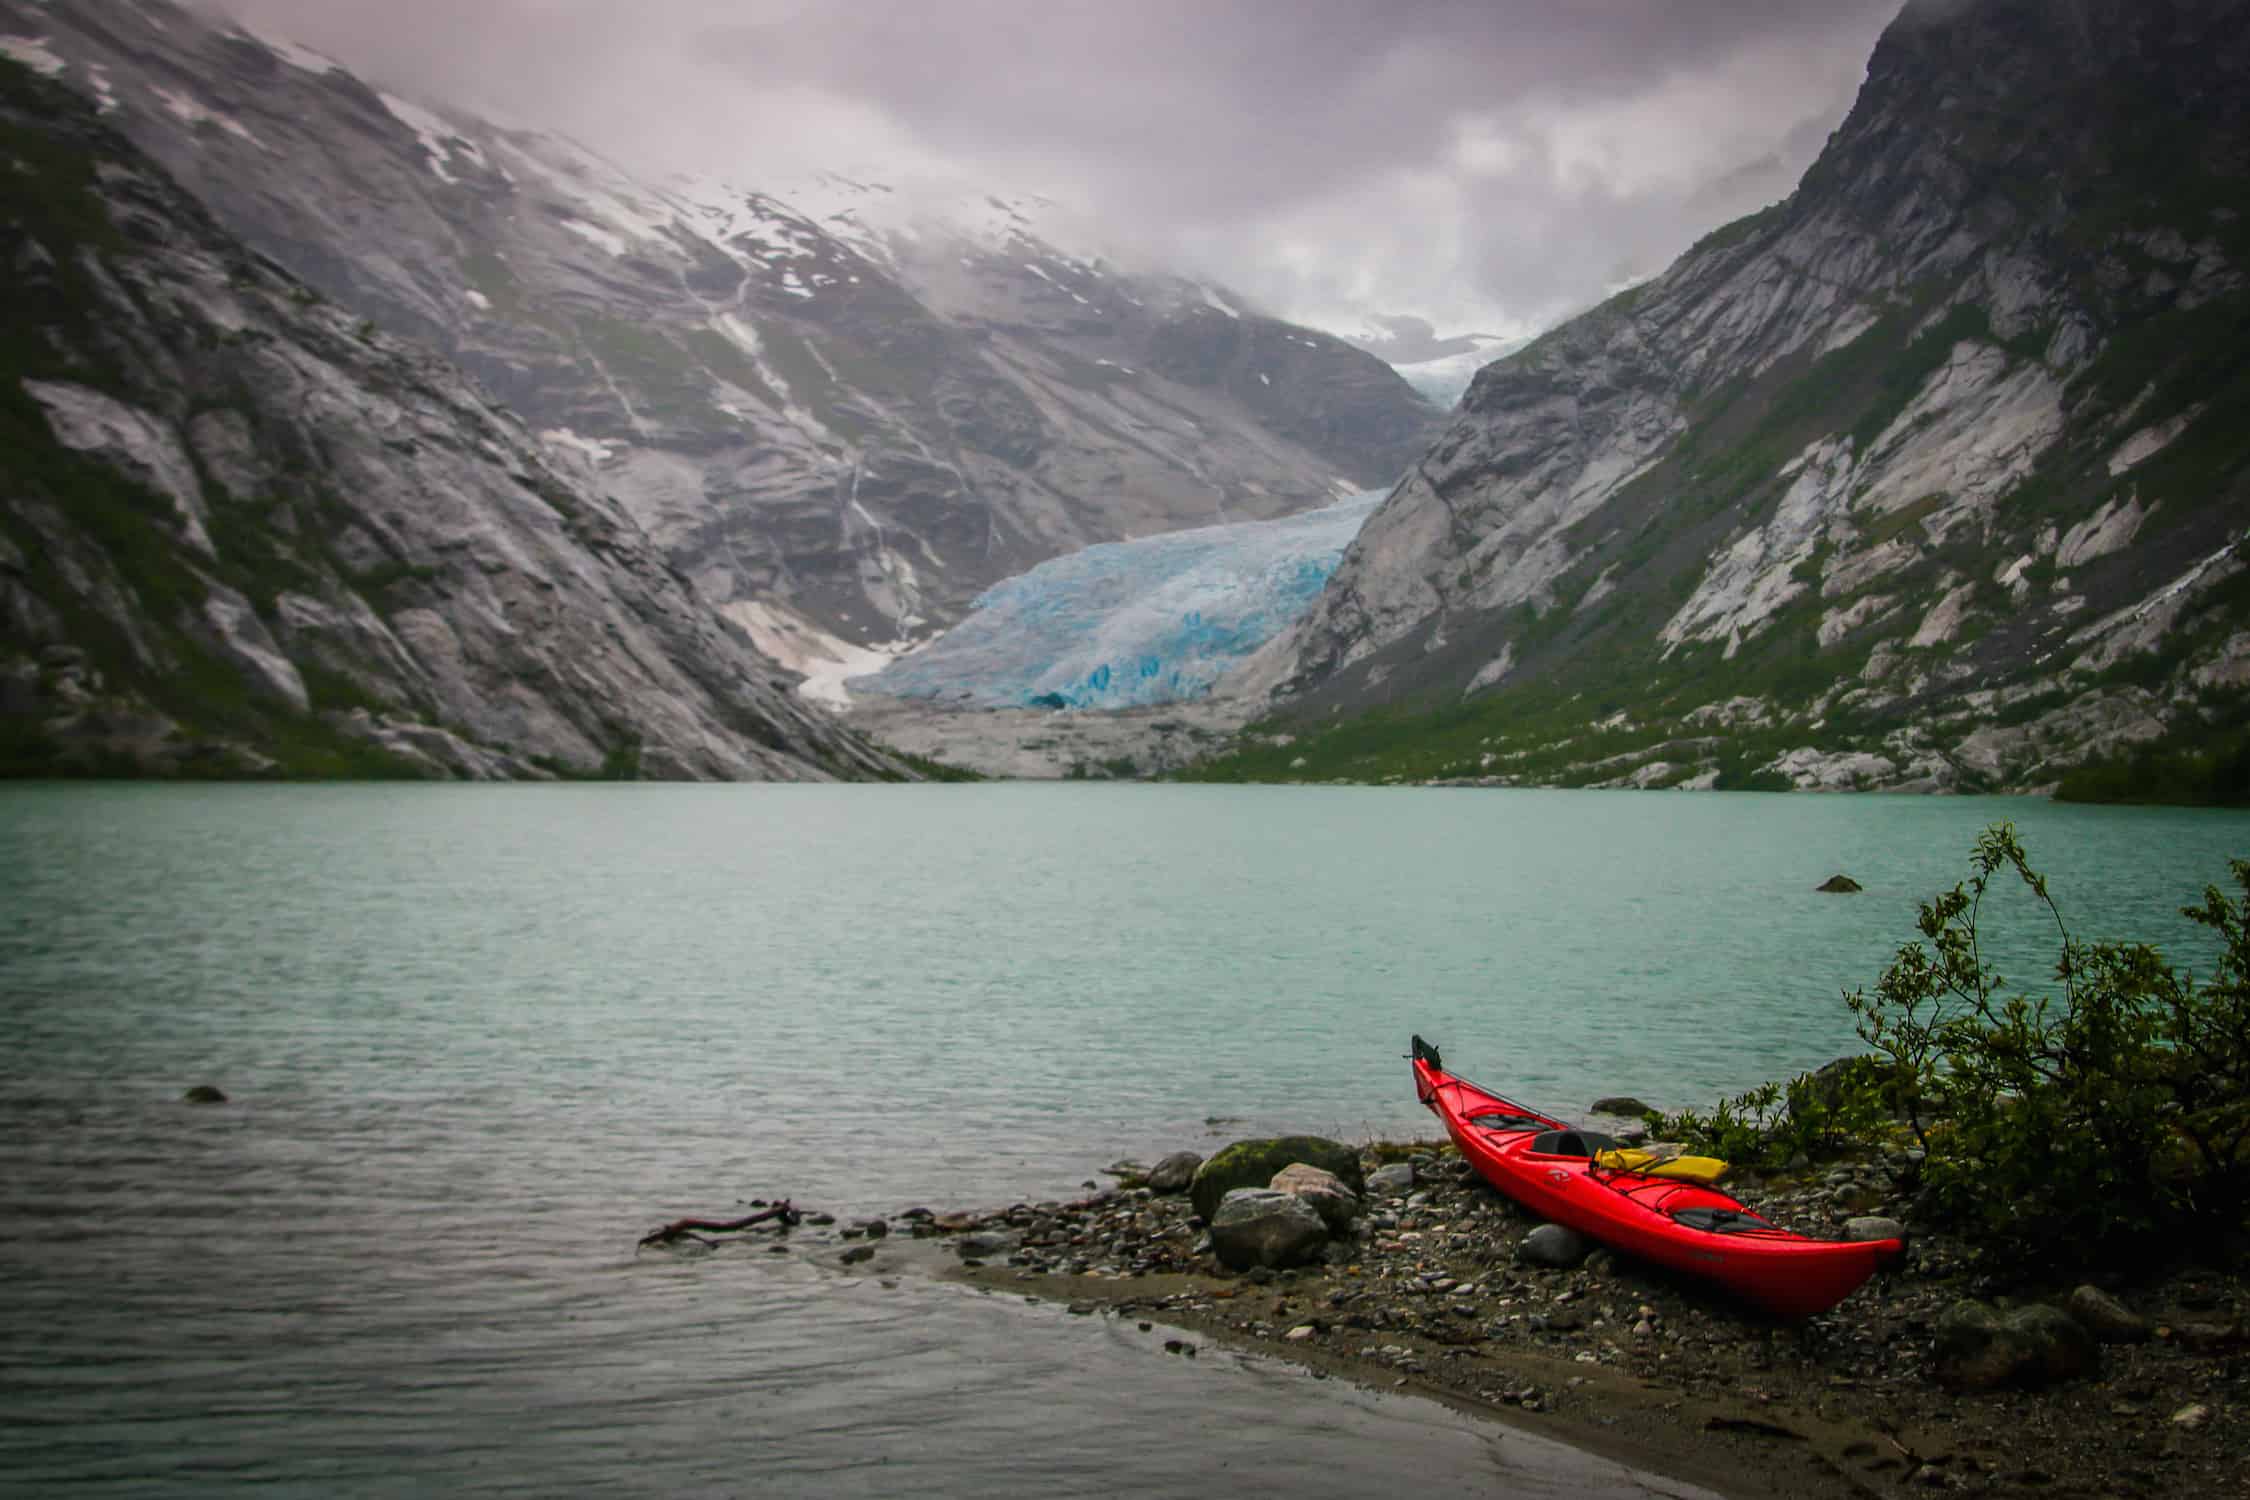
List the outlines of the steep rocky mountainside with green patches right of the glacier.
<svg viewBox="0 0 2250 1500">
<path fill-rule="evenodd" d="M 1789 200 L 1476 378 L 1226 774 L 2034 787 L 2239 735 L 2246 101 L 2241 0 L 1910 0 Z"/>
</svg>

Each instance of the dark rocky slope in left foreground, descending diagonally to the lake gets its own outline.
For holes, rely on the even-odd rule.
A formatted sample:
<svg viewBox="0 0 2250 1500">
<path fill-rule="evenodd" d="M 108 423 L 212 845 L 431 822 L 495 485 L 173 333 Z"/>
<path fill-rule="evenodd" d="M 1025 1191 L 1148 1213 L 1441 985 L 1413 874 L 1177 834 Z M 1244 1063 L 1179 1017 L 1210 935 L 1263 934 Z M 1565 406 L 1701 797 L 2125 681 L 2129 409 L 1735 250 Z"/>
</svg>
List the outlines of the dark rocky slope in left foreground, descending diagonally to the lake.
<svg viewBox="0 0 2250 1500">
<path fill-rule="evenodd" d="M 0 771 L 904 774 L 459 371 L 27 61 L 0 61 Z"/>
</svg>

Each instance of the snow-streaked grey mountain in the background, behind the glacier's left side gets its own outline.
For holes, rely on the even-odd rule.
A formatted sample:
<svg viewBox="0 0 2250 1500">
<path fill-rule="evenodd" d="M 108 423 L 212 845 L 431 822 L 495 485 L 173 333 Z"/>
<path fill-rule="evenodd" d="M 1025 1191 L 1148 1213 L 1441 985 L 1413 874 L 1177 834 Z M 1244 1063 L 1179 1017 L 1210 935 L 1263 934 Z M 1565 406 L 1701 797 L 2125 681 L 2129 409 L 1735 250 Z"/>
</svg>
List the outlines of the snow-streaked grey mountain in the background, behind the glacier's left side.
<svg viewBox="0 0 2250 1500">
<path fill-rule="evenodd" d="M 1127 274 L 1042 205 L 648 182 L 166 0 L 0 0 L 250 245 L 522 412 L 792 661 L 927 636 L 1089 542 L 1393 481 L 1379 360 Z"/>
</svg>

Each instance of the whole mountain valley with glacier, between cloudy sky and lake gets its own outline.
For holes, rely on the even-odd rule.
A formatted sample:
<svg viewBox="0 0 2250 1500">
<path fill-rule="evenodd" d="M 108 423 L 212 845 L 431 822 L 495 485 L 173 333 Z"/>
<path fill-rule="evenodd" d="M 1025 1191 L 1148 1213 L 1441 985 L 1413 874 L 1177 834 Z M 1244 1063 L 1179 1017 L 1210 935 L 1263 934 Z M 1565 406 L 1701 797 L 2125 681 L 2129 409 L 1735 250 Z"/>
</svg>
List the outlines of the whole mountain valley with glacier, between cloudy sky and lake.
<svg viewBox="0 0 2250 1500">
<path fill-rule="evenodd" d="M 1449 414 L 1037 198 L 648 180 L 164 0 L 0 52 L 18 774 L 2243 780 L 2232 0 L 1910 0 Z"/>
</svg>

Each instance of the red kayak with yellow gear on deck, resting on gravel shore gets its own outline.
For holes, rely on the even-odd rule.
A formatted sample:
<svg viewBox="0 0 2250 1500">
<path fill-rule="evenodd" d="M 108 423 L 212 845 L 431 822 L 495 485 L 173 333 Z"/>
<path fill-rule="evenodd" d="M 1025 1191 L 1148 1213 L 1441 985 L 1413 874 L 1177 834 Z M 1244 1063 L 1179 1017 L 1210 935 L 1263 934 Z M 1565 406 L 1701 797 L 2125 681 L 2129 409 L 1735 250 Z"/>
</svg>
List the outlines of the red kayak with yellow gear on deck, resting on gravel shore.
<svg viewBox="0 0 2250 1500">
<path fill-rule="evenodd" d="M 1420 1037 L 1413 1084 L 1469 1165 L 1516 1203 L 1616 1250 L 1719 1282 L 1782 1318 L 1825 1313 L 1906 1248 L 1897 1239 L 1807 1239 L 1703 1183 L 1654 1165 L 1604 1165 L 1640 1154 L 1454 1077 Z"/>
</svg>

